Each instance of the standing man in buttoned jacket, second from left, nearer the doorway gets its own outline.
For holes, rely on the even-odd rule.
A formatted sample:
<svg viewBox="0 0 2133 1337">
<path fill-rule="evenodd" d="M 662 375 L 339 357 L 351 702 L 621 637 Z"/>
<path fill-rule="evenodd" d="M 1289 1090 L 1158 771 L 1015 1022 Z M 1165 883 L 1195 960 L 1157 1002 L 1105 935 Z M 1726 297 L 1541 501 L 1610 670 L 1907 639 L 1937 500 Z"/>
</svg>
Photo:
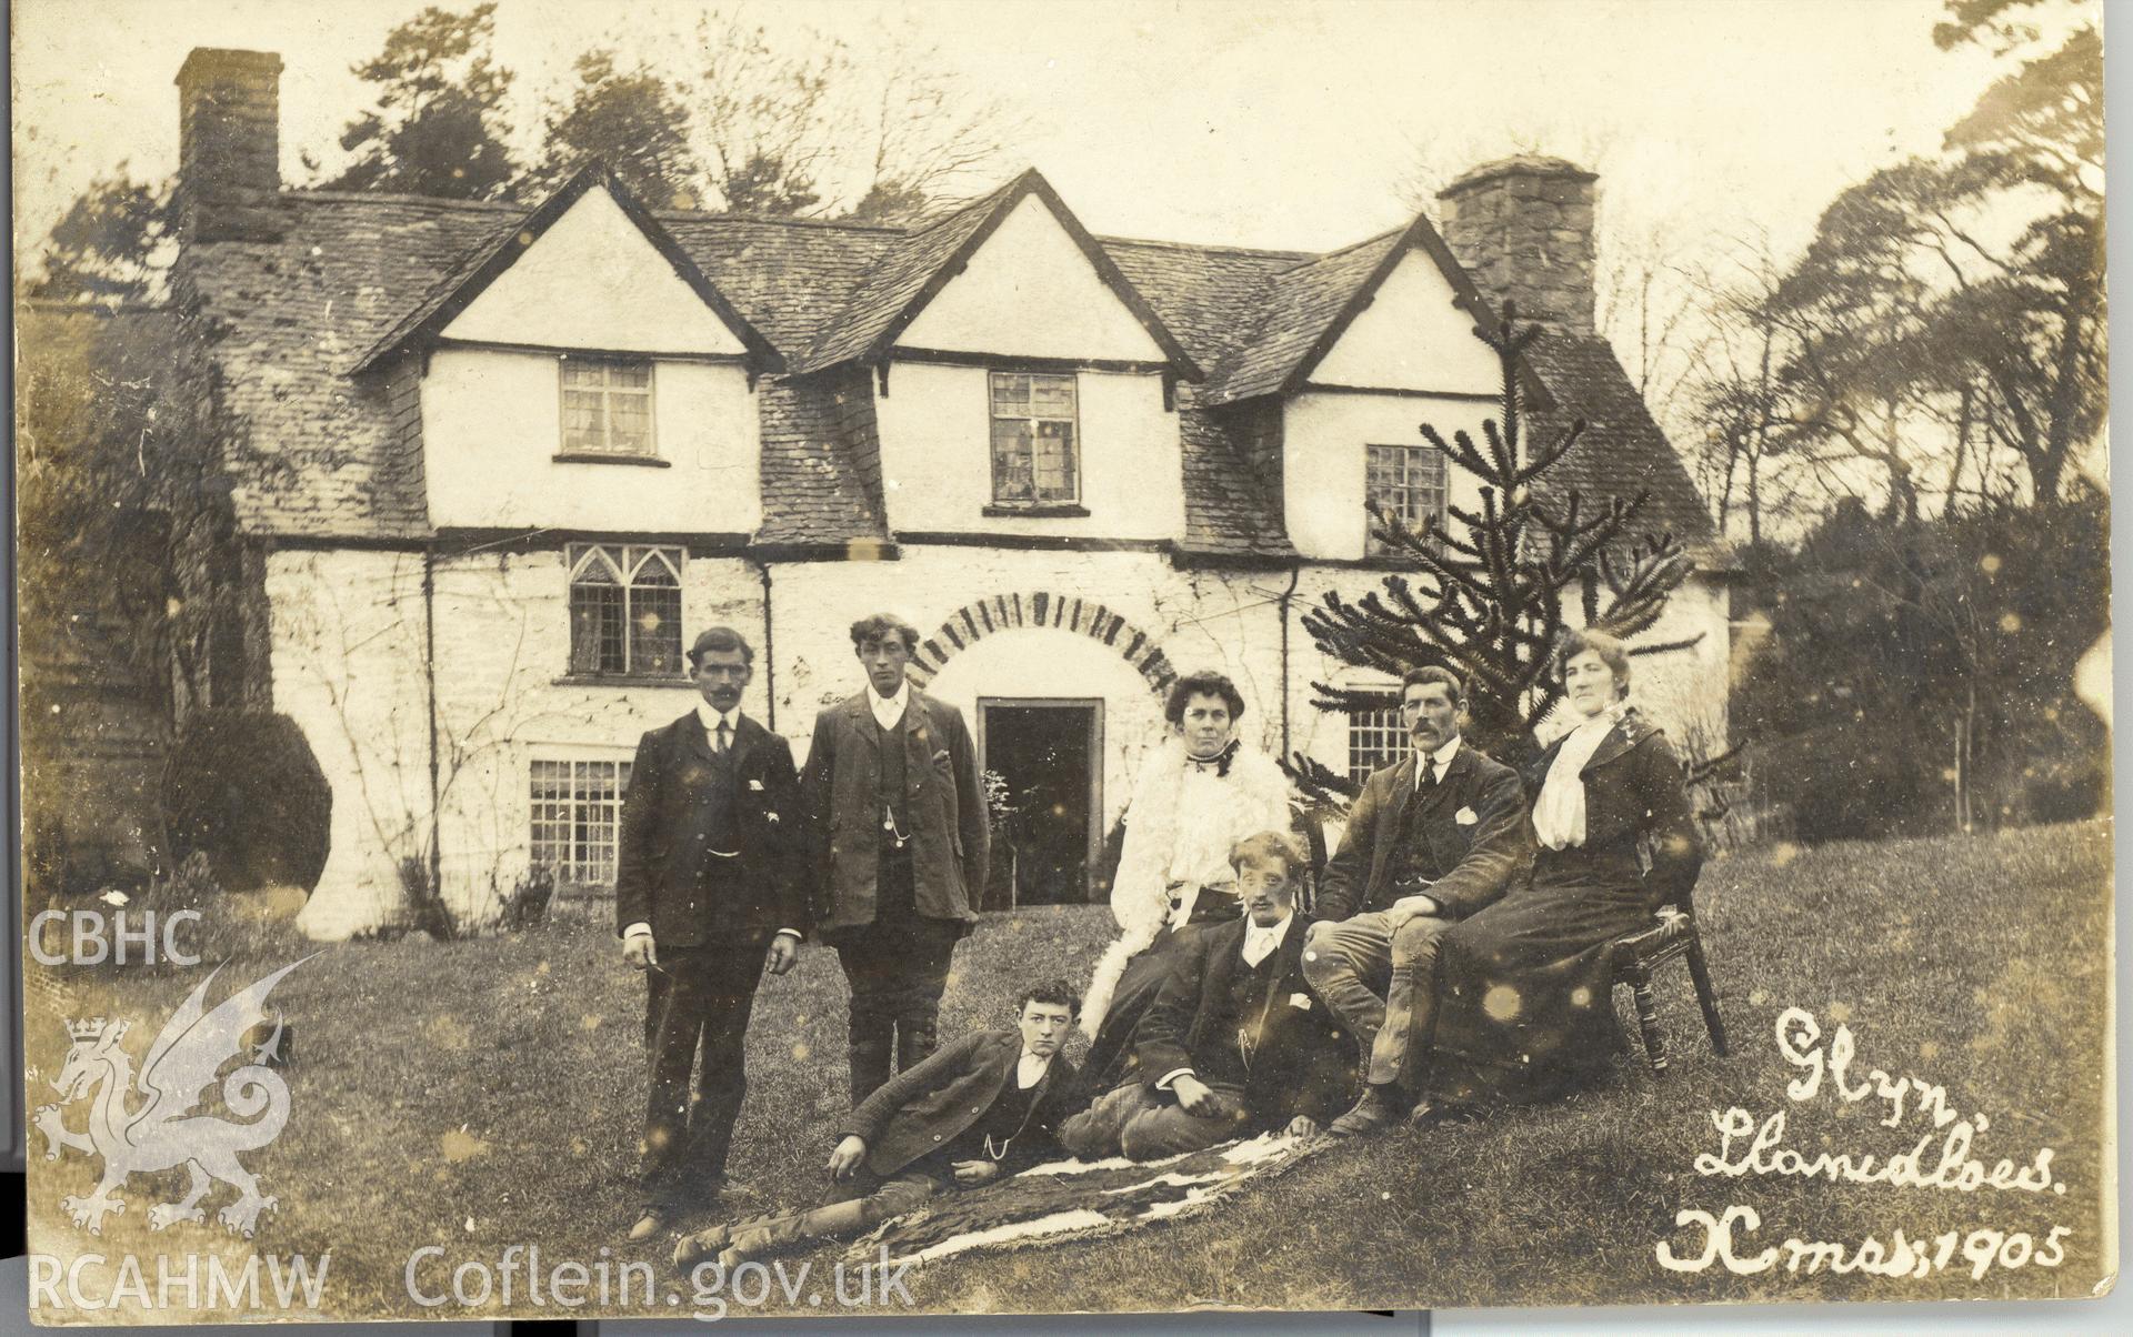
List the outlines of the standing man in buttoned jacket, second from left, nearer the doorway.
<svg viewBox="0 0 2133 1337">
<path fill-rule="evenodd" d="M 802 795 L 815 919 L 851 983 L 851 1102 L 934 1051 L 956 943 L 977 923 L 990 825 L 962 712 L 911 687 L 911 623 L 851 625 L 866 689 L 815 719 Z"/>
</svg>

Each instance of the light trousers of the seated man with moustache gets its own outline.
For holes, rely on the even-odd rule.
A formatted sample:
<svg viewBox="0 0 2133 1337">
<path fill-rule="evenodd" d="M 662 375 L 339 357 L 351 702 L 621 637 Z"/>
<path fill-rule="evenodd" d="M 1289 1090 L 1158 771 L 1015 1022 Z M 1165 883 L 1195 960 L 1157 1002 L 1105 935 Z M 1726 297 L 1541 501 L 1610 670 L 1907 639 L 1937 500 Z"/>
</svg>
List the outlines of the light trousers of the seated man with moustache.
<svg viewBox="0 0 2133 1337">
<path fill-rule="evenodd" d="M 1438 936 L 1450 919 L 1416 915 L 1393 928 L 1369 911 L 1337 923 L 1314 923 L 1303 943 L 1303 979 L 1348 1024 L 1369 1053 L 1372 1085 L 1414 1081 L 1414 1049 L 1429 1041 L 1438 996 Z"/>
</svg>

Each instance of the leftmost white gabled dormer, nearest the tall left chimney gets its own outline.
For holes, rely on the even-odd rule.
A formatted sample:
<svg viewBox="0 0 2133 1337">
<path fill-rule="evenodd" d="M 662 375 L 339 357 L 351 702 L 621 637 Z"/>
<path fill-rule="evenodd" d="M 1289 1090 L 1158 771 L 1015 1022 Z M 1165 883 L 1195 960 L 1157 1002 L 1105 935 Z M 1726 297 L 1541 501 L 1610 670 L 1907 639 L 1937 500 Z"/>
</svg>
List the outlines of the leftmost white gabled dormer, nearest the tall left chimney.
<svg viewBox="0 0 2133 1337">
<path fill-rule="evenodd" d="M 414 375 L 439 529 L 744 535 L 783 358 L 599 166 L 499 228 L 365 354 Z"/>
</svg>

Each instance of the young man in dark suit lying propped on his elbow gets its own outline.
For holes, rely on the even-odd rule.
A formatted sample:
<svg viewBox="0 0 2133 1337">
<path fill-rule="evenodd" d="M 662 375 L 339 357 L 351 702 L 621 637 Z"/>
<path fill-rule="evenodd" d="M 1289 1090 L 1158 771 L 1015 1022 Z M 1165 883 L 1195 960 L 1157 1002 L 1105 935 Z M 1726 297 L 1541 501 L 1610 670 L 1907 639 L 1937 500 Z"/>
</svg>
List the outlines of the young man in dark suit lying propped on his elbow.
<svg viewBox="0 0 2133 1337">
<path fill-rule="evenodd" d="M 727 1275 L 808 1239 L 872 1230 L 953 1188 L 977 1188 L 1058 1154 L 1054 1132 L 1073 1088 L 1060 1045 L 1081 996 L 1062 979 L 1022 996 L 1017 1030 L 979 1030 L 892 1077 L 851 1111 L 830 1154 L 838 1181 L 813 1211 L 685 1235 L 674 1267 L 712 1254 Z"/>
</svg>

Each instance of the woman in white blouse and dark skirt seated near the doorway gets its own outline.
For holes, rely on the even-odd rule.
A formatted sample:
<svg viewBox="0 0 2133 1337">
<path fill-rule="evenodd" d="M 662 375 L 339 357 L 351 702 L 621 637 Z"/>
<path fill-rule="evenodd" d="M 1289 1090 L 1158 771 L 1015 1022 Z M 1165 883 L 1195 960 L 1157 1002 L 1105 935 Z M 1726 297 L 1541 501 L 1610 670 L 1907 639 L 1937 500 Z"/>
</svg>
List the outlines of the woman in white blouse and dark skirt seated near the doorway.
<svg viewBox="0 0 2133 1337">
<path fill-rule="evenodd" d="M 1177 934 L 1241 913 L 1231 849 L 1258 832 L 1286 832 L 1288 776 L 1244 746 L 1244 693 L 1222 674 L 1186 674 L 1162 714 L 1171 736 L 1141 766 L 1126 806 L 1126 840 L 1111 881 L 1120 936 L 1096 962 L 1081 998 L 1094 1041 L 1081 1064 L 1088 1092 L 1107 1092 L 1133 1053 L 1133 1028 L 1167 974 Z"/>
</svg>

